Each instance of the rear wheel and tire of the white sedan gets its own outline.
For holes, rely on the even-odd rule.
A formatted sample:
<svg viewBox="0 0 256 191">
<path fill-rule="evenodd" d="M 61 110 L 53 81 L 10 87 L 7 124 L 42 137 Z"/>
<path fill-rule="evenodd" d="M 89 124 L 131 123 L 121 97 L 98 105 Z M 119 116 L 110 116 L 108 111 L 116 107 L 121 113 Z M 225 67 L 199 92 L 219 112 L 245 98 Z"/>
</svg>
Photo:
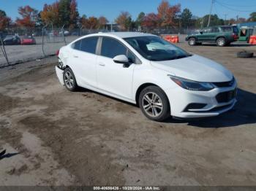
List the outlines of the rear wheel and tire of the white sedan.
<svg viewBox="0 0 256 191">
<path fill-rule="evenodd" d="M 72 69 L 70 69 L 70 68 L 64 69 L 63 81 L 64 81 L 64 85 L 67 88 L 67 90 L 74 92 L 75 90 L 78 89 L 78 85 L 75 80 L 75 75 L 72 72 Z"/>
</svg>

